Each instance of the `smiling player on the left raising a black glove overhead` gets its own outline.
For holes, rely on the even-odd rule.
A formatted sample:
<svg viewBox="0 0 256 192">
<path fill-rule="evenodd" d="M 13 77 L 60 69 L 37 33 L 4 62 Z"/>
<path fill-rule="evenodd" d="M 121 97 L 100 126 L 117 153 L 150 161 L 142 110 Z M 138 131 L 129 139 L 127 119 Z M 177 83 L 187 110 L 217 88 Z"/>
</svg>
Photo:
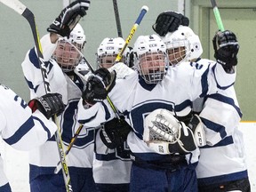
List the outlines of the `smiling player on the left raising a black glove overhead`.
<svg viewBox="0 0 256 192">
<path fill-rule="evenodd" d="M 52 92 L 60 92 L 67 105 L 59 118 L 61 139 L 65 146 L 68 146 L 79 127 L 76 121 L 77 103 L 82 96 L 85 81 L 77 71 L 84 66 L 81 52 L 84 49 L 85 35 L 84 29 L 76 24 L 76 20 L 86 14 L 89 4 L 89 1 L 81 0 L 68 5 L 50 28 L 47 28 L 50 33 L 41 39 Z M 35 48 L 32 48 L 22 63 L 32 98 L 44 92 L 40 68 L 35 58 Z M 94 128 L 83 128 L 67 156 L 74 191 L 95 191 L 92 178 L 93 135 Z M 59 161 L 54 138 L 29 154 L 31 192 L 66 191 L 62 172 L 54 173 Z"/>
</svg>

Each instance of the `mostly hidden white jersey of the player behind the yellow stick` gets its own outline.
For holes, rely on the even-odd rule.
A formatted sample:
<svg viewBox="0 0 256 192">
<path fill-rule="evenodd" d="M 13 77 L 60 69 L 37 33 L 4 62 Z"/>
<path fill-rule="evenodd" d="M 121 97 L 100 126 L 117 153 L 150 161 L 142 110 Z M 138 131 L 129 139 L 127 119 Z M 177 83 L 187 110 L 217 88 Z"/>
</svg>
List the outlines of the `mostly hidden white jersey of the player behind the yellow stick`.
<svg viewBox="0 0 256 192">
<path fill-rule="evenodd" d="M 131 68 L 121 62 L 116 63 L 108 70 L 116 71 L 116 79 L 125 78 L 133 73 Z M 128 191 L 131 166 L 130 148 L 126 142 L 120 148 L 109 149 L 100 139 L 100 132 L 96 133 L 92 172 L 98 188 L 108 188 L 109 191 L 120 191 L 121 189 Z M 118 187 L 113 184 L 118 184 Z"/>
</svg>

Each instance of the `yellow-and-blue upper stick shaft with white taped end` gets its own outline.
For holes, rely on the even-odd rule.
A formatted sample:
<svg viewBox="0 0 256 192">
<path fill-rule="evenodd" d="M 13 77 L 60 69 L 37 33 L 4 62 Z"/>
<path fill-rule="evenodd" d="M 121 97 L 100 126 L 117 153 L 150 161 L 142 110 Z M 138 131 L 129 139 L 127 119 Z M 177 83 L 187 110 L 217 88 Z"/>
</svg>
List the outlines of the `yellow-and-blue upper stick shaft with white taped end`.
<svg viewBox="0 0 256 192">
<path fill-rule="evenodd" d="M 135 31 L 137 30 L 138 26 L 140 25 L 141 20 L 143 19 L 143 17 L 145 16 L 145 14 L 147 12 L 148 12 L 148 6 L 146 6 L 146 5 L 142 6 L 141 10 L 140 10 L 140 15 L 137 18 L 137 20 L 135 21 L 135 23 L 133 24 L 132 29 L 130 31 L 130 34 L 129 34 L 129 36 L 125 40 L 124 47 L 122 48 L 122 50 L 116 56 L 115 62 L 118 62 L 118 61 L 120 61 L 122 59 L 122 55 L 124 53 L 124 50 L 126 49 L 128 44 L 130 43 L 130 41 L 132 39 L 132 36 L 135 34 Z"/>
</svg>

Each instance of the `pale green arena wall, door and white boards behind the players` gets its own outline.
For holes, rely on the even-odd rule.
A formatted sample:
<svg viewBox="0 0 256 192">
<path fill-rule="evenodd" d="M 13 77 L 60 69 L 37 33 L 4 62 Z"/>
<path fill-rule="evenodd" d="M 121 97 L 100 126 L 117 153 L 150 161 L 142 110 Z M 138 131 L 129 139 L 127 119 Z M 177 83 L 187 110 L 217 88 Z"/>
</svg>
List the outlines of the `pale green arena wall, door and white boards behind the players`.
<svg viewBox="0 0 256 192">
<path fill-rule="evenodd" d="M 44 36 L 46 28 L 58 16 L 63 4 L 68 0 L 21 0 L 36 16 L 40 36 Z M 95 68 L 95 52 L 105 37 L 117 36 L 116 20 L 112 0 L 91 0 L 90 10 L 81 20 L 86 34 L 84 56 Z M 217 25 L 212 13 L 211 1 L 206 0 L 117 0 L 124 39 L 128 36 L 142 5 L 148 5 L 149 11 L 142 20 L 131 46 L 140 35 L 151 35 L 151 28 L 157 15 L 166 10 L 183 12 L 190 19 L 190 27 L 200 36 L 204 47 L 203 58 L 213 60 L 212 37 Z M 224 27 L 236 33 L 240 44 L 236 76 L 236 95 L 244 113 L 240 130 L 244 132 L 245 148 L 248 155 L 248 166 L 252 192 L 256 191 L 256 151 L 254 140 L 256 129 L 256 1 L 225 0 L 218 1 L 220 15 Z M 26 52 L 34 46 L 28 21 L 10 8 L 0 4 L 0 75 L 1 84 L 5 84 L 17 92 L 25 100 L 29 100 L 28 86 L 24 80 L 21 62 Z M 2 143 L 5 171 L 10 179 L 14 192 L 28 192 L 28 154 L 13 150 Z M 0 150 L 1 151 L 1 150 Z"/>
</svg>

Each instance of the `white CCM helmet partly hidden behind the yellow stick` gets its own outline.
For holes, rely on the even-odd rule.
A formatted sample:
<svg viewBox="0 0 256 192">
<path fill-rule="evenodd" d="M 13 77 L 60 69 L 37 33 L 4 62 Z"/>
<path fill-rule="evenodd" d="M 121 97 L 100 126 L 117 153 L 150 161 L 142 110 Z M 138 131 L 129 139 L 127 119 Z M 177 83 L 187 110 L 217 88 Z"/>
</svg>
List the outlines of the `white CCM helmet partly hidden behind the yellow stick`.
<svg viewBox="0 0 256 192">
<path fill-rule="evenodd" d="M 125 41 L 121 37 L 116 38 L 104 38 L 100 43 L 100 46 L 97 50 L 97 63 L 99 67 L 111 67 L 116 60 L 116 56 L 123 49 Z M 130 50 L 125 48 L 122 59 L 120 61 L 124 64 L 129 65 Z M 108 68 L 109 68 L 108 67 Z"/>
</svg>

